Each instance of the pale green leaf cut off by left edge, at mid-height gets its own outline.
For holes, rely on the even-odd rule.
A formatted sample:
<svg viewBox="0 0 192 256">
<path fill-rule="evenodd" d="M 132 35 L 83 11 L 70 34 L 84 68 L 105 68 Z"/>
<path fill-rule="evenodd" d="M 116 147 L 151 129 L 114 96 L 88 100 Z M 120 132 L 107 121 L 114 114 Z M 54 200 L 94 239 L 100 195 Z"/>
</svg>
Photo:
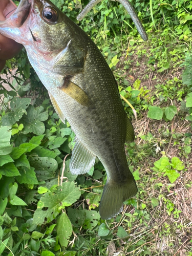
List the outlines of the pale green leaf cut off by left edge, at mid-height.
<svg viewBox="0 0 192 256">
<path fill-rule="evenodd" d="M 12 151 L 10 144 L 11 130 L 9 126 L 0 127 L 0 155 L 8 155 Z"/>
</svg>

